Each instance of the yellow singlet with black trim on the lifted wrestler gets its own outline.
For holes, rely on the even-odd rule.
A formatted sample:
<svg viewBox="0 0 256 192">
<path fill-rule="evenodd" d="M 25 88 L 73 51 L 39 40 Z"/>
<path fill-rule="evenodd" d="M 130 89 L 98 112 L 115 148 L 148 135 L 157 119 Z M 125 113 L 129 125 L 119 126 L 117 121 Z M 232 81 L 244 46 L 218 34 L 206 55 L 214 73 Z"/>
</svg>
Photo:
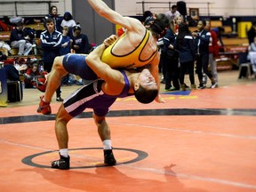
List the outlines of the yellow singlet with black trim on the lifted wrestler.
<svg viewBox="0 0 256 192">
<path fill-rule="evenodd" d="M 124 37 L 120 36 L 120 38 L 115 42 L 115 44 Z M 143 37 L 140 44 L 135 47 L 132 52 L 129 52 L 125 55 L 116 55 L 113 53 L 113 48 L 115 44 L 111 44 L 108 48 L 103 52 L 101 56 L 101 60 L 107 63 L 111 68 L 140 68 L 143 66 L 147 66 L 156 56 L 156 52 L 147 59 L 140 60 L 140 54 L 143 51 L 145 45 L 148 43 L 149 31 L 146 29 L 145 36 Z M 124 45 L 125 46 L 125 45 Z"/>
</svg>

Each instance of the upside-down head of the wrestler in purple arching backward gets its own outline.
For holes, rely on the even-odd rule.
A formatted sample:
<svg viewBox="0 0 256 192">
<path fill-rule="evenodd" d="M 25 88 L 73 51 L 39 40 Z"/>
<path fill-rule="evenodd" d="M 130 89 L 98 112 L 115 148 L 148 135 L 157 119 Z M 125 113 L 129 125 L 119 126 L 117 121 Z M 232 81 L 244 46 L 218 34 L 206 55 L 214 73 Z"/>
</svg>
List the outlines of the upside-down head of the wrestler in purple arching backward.
<svg viewBox="0 0 256 192">
<path fill-rule="evenodd" d="M 134 96 L 141 103 L 150 103 L 156 99 L 158 87 L 154 76 L 151 75 L 148 68 L 144 68 L 137 83 L 134 85 Z"/>
</svg>

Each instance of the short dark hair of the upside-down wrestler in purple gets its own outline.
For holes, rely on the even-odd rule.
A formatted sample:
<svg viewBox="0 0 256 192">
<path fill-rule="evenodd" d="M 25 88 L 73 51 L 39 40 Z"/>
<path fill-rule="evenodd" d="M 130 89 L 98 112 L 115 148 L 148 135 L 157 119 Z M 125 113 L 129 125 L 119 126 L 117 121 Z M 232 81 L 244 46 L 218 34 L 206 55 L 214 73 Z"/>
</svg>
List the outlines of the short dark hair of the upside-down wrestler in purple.
<svg viewBox="0 0 256 192">
<path fill-rule="evenodd" d="M 134 96 L 140 103 L 148 104 L 156 99 L 158 89 L 145 89 L 140 85 L 138 90 L 134 90 Z"/>
</svg>

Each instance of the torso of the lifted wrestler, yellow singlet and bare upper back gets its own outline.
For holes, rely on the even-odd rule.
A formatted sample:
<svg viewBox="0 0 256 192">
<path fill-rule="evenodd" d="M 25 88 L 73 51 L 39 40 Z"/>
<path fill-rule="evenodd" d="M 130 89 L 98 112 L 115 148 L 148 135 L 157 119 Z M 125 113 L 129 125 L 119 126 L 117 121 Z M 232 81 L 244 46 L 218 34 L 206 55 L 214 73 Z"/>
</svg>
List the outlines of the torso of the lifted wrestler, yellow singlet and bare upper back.
<svg viewBox="0 0 256 192">
<path fill-rule="evenodd" d="M 140 68 L 154 60 L 156 39 L 148 30 L 144 34 L 124 33 L 102 54 L 101 60 L 111 68 Z"/>
</svg>

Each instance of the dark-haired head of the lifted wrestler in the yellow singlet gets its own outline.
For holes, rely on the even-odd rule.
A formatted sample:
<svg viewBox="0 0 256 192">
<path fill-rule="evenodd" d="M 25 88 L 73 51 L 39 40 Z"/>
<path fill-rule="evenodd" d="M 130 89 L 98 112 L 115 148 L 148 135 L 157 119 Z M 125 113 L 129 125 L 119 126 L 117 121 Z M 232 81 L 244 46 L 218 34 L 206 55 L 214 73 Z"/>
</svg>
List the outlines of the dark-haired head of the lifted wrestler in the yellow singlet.
<svg viewBox="0 0 256 192">
<path fill-rule="evenodd" d="M 169 25 L 169 19 L 163 13 L 160 13 L 156 15 L 156 20 L 154 20 L 149 28 L 152 31 L 152 35 L 158 38 L 158 36 L 165 35 Z"/>
</svg>

